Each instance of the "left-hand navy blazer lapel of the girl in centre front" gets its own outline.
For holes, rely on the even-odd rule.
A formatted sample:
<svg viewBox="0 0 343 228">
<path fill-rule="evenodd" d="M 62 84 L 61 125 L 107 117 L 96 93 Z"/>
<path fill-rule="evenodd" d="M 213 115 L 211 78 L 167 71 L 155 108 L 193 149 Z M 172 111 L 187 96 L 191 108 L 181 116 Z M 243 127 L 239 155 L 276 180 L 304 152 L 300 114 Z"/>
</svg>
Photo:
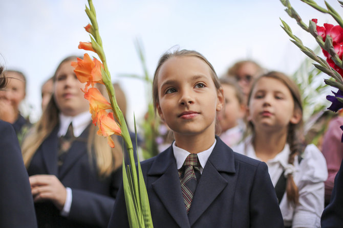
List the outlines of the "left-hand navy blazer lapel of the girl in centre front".
<svg viewBox="0 0 343 228">
<path fill-rule="evenodd" d="M 180 178 L 171 147 L 156 157 L 151 169 L 148 171 L 148 176 L 152 175 L 161 175 L 152 183 L 152 187 L 171 217 L 180 227 L 190 227 L 181 193 Z"/>
</svg>

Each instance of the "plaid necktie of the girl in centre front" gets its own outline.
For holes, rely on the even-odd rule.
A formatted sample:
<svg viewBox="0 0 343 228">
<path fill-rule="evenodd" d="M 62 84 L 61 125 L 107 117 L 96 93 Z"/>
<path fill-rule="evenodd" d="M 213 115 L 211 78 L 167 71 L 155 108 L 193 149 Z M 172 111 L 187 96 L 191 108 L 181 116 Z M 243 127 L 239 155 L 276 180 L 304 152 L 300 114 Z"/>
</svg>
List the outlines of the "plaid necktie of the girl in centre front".
<svg viewBox="0 0 343 228">
<path fill-rule="evenodd" d="M 197 188 L 197 176 L 200 177 L 200 162 L 198 154 L 191 153 L 187 156 L 181 169 L 179 169 L 179 177 L 183 200 L 185 202 L 186 212 L 188 214 L 190 204 L 192 203 L 193 195 Z"/>
</svg>

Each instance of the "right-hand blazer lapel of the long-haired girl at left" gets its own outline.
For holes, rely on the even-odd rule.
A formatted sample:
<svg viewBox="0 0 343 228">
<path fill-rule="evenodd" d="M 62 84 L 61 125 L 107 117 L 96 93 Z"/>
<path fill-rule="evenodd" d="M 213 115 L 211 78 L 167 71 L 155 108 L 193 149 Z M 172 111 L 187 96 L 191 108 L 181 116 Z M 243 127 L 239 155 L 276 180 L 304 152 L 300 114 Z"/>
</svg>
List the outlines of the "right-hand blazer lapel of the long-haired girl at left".
<svg viewBox="0 0 343 228">
<path fill-rule="evenodd" d="M 89 135 L 89 128 L 90 125 L 82 132 L 82 134 L 73 142 L 72 146 L 70 147 L 65 162 L 60 167 L 60 171 L 58 174 L 59 179 L 63 179 L 63 177 L 78 161 L 80 156 L 82 156 L 84 153 L 87 153 L 87 139 Z"/>
</svg>

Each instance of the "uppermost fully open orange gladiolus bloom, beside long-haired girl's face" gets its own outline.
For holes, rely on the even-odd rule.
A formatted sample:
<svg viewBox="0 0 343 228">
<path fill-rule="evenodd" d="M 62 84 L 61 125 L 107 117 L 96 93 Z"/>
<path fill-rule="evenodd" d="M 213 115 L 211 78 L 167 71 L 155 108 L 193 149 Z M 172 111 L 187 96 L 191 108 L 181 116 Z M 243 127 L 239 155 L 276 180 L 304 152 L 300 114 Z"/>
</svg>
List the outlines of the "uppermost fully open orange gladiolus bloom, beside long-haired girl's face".
<svg viewBox="0 0 343 228">
<path fill-rule="evenodd" d="M 87 82 L 84 90 L 87 91 L 88 86 L 91 84 L 94 86 L 94 83 L 103 84 L 101 76 L 101 67 L 103 67 L 103 65 L 96 58 L 92 60 L 86 53 L 83 55 L 83 60 L 77 58 L 77 62 L 72 62 L 72 66 L 75 68 L 74 72 L 78 80 L 81 83 Z"/>
</svg>

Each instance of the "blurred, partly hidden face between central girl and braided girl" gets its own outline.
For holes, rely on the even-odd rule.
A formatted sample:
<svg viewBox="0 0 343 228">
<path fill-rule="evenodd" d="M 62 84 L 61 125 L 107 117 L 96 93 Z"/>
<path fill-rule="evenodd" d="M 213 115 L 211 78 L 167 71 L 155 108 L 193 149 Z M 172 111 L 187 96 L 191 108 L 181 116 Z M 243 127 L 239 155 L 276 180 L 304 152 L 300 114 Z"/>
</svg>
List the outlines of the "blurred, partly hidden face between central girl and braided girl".
<svg viewBox="0 0 343 228">
<path fill-rule="evenodd" d="M 224 132 L 237 126 L 238 120 L 244 116 L 245 106 L 240 104 L 236 91 L 232 85 L 222 84 L 224 91 L 225 107 L 219 113 L 218 120 Z"/>
</svg>

